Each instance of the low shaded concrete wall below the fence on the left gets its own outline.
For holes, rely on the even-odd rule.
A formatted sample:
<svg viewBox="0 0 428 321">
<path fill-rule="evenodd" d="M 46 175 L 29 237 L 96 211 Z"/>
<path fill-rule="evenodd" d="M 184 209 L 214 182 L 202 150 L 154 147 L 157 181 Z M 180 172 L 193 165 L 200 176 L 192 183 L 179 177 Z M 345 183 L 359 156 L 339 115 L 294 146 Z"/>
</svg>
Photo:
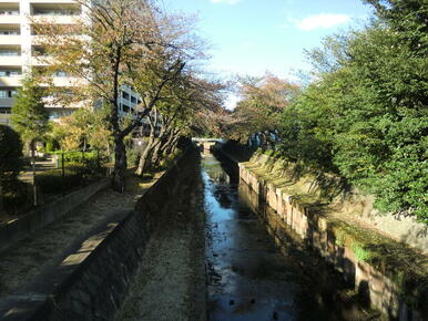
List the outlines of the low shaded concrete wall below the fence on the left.
<svg viewBox="0 0 428 321">
<path fill-rule="evenodd" d="M 109 185 L 110 179 L 104 178 L 52 203 L 42 205 L 19 219 L 0 225 L 0 252 L 28 235 L 42 229 L 59 217 L 67 215 Z"/>
</svg>

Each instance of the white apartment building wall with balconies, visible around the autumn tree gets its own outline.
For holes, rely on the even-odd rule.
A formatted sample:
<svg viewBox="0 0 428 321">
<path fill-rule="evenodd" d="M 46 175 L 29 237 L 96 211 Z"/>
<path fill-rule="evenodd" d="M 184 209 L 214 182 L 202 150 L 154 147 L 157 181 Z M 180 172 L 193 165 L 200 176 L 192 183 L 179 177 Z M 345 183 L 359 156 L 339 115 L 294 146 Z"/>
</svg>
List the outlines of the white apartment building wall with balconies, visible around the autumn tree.
<svg viewBox="0 0 428 321">
<path fill-rule="evenodd" d="M 40 14 L 40 10 L 63 10 L 65 8 L 75 8 L 77 1 L 72 0 L 0 0 L 0 124 L 9 123 L 10 107 L 13 99 L 11 97 L 17 87 L 20 86 L 22 74 L 28 72 L 32 65 L 40 65 L 37 58 L 32 56 L 32 45 L 37 44 L 38 35 L 31 34 L 30 17 L 38 19 L 39 17 L 54 21 L 57 23 L 75 23 L 75 15 L 55 15 L 52 12 L 48 14 Z M 34 8 L 38 12 L 34 12 Z M 17 14 L 17 10 L 19 13 Z M 89 8 L 81 8 L 81 15 L 83 19 L 88 17 Z M 34 14 L 39 13 L 39 14 Z M 18 30 L 19 34 L 2 34 L 10 32 L 10 30 Z M 19 55 L 4 55 L 2 50 L 18 50 Z M 19 74 L 16 74 L 19 72 Z M 7 73 L 7 74 L 4 74 Z M 54 77 L 53 83 L 57 86 L 70 86 L 79 81 L 68 76 Z M 123 87 L 128 93 L 129 100 L 122 95 L 120 97 L 120 115 L 133 114 L 137 95 L 131 87 Z M 135 102 L 132 102 L 134 97 Z M 70 114 L 73 107 L 55 107 L 50 106 L 49 111 L 52 117 Z"/>
</svg>

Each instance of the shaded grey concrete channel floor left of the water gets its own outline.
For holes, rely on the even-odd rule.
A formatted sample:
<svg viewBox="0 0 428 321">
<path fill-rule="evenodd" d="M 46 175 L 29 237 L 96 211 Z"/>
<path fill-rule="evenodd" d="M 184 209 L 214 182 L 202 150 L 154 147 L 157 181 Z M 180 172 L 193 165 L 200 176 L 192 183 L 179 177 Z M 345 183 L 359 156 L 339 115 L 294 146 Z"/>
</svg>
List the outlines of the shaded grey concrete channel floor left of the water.
<svg viewBox="0 0 428 321">
<path fill-rule="evenodd" d="M 202 321 L 205 298 L 205 213 L 202 183 L 167 213 L 114 321 Z"/>
</svg>

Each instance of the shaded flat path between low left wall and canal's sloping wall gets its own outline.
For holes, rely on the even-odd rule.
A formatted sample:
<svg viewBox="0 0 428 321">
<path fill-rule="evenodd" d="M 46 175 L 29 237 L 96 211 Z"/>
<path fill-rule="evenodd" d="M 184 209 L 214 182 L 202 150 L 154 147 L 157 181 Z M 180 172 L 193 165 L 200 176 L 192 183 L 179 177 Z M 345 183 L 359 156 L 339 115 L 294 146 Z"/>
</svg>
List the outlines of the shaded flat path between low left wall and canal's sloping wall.
<svg viewBox="0 0 428 321">
<path fill-rule="evenodd" d="M 135 177 L 129 177 L 126 193 L 102 190 L 64 217 L 0 253 L 0 303 L 28 284 L 37 283 L 38 278 L 44 279 L 42 275 L 50 268 L 64 260 L 70 263 L 70 260 L 78 259 L 70 256 L 77 249 L 94 247 L 103 232 L 132 210 L 135 201 L 154 182 L 141 183 Z"/>
</svg>

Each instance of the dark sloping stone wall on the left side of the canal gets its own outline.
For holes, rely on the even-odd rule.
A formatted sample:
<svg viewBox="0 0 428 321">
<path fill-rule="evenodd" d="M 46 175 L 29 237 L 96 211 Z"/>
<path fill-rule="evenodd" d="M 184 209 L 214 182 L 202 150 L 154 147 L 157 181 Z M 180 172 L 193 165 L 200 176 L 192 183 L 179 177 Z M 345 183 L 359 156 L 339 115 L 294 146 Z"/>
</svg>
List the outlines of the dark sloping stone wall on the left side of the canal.
<svg viewBox="0 0 428 321">
<path fill-rule="evenodd" d="M 51 271 L 52 291 L 16 297 L 0 320 L 110 320 L 128 293 L 152 232 L 193 186 L 197 157 L 194 148 L 187 149 L 100 244 L 89 245 Z"/>
</svg>

